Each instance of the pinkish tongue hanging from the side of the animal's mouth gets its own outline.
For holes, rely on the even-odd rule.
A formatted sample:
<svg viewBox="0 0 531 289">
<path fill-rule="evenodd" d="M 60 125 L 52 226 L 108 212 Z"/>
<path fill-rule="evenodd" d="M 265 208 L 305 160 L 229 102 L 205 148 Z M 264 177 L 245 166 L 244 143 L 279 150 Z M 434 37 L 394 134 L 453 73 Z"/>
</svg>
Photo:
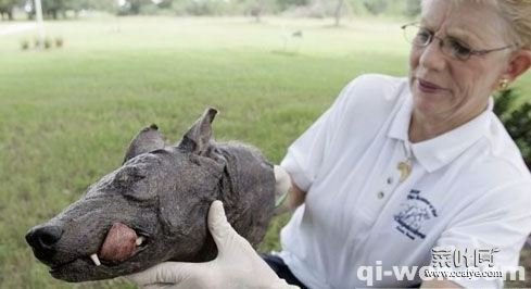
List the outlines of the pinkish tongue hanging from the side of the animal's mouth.
<svg viewBox="0 0 531 289">
<path fill-rule="evenodd" d="M 114 223 L 98 255 L 106 261 L 124 261 L 132 255 L 136 240 L 137 234 L 134 229 L 122 223 Z"/>
</svg>

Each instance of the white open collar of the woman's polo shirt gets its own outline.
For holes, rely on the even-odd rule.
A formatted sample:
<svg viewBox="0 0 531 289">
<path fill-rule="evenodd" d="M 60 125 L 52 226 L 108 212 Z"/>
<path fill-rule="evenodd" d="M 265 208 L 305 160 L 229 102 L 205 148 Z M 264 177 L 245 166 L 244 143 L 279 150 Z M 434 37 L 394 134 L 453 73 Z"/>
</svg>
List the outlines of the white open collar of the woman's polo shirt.
<svg viewBox="0 0 531 289">
<path fill-rule="evenodd" d="M 410 143 L 408 129 L 413 112 L 413 97 L 407 93 L 394 116 L 388 136 L 404 141 L 406 149 L 410 149 L 415 159 L 431 173 L 452 162 L 485 134 L 491 123 L 493 106 L 494 100 L 491 97 L 486 110 L 468 123 L 435 138 Z"/>
</svg>

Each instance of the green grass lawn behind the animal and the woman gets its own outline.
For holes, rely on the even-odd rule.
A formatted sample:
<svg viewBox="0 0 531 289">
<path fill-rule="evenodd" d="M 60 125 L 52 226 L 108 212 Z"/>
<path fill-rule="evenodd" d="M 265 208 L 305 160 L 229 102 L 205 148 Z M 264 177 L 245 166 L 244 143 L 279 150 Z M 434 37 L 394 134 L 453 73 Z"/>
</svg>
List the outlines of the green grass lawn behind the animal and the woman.
<svg viewBox="0 0 531 289">
<path fill-rule="evenodd" d="M 7 24 L 0 23 L 0 29 Z M 267 18 L 98 18 L 47 25 L 62 49 L 22 51 L 34 34 L 0 36 L 0 288 L 128 288 L 54 280 L 24 241 L 121 164 L 141 127 L 179 140 L 205 106 L 218 140 L 287 147 L 364 73 L 405 75 L 399 23 Z M 302 39 L 286 32 L 303 30 Z M 519 83 L 530 95 L 531 78 Z M 261 250 L 278 249 L 276 219 Z"/>
</svg>

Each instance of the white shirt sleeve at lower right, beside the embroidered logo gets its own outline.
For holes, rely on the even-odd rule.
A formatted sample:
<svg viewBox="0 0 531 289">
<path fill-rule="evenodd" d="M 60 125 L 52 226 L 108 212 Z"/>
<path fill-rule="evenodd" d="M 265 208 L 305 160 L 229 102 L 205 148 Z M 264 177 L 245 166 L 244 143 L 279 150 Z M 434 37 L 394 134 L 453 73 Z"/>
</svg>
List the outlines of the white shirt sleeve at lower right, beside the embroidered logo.
<svg viewBox="0 0 531 289">
<path fill-rule="evenodd" d="M 453 269 L 466 269 L 465 262 L 481 269 L 489 267 L 490 261 L 495 271 L 517 269 L 520 250 L 531 233 L 530 190 L 530 181 L 501 186 L 454 218 L 437 242 L 439 248 L 450 248 L 453 261 L 460 263 Z M 503 278 L 464 277 L 453 281 L 465 288 L 503 288 Z"/>
</svg>

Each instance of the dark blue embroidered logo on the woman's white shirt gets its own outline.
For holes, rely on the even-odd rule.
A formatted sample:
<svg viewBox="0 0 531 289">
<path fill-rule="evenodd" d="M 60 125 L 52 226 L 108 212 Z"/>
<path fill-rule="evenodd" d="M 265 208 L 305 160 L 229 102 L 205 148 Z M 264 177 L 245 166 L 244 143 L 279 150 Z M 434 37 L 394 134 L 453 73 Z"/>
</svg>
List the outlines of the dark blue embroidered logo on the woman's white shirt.
<svg viewBox="0 0 531 289">
<path fill-rule="evenodd" d="M 420 197 L 419 190 L 410 190 L 405 202 L 401 204 L 401 211 L 394 215 L 399 223 L 396 229 L 409 239 L 423 239 L 422 225 L 426 221 L 437 217 L 435 208 L 427 199 Z"/>
</svg>

